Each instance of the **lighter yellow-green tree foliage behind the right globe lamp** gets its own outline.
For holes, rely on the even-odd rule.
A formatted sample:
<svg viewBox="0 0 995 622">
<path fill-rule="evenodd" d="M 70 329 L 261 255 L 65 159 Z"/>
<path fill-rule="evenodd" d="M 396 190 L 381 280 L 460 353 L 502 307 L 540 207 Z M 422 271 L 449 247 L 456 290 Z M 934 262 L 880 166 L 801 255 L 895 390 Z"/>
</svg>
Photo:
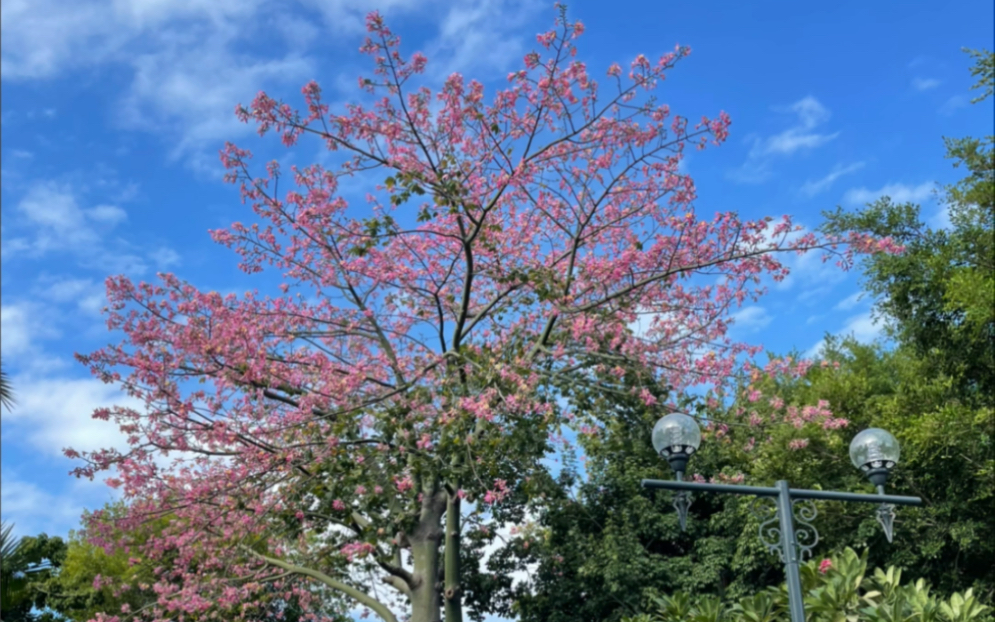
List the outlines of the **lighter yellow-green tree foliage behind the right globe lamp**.
<svg viewBox="0 0 995 622">
<path fill-rule="evenodd" d="M 995 410 L 951 399 L 951 379 L 927 373 L 930 363 L 906 348 L 885 351 L 830 339 L 825 358 L 829 364 L 813 368 L 803 381 L 763 388 L 787 404 L 825 399 L 850 425 L 770 430 L 773 442 L 752 452 L 750 481 L 787 479 L 796 487 L 871 492 L 849 463 L 847 446 L 858 430 L 889 430 L 902 445 L 889 489 L 920 496 L 924 506 L 898 510 L 895 541 L 889 544 L 867 507 L 820 503 L 817 527 L 823 542 L 869 547 L 875 565 L 915 568 L 917 577 L 945 594 L 974 587 L 991 602 Z M 791 450 L 795 438 L 807 439 L 808 446 Z"/>
</svg>

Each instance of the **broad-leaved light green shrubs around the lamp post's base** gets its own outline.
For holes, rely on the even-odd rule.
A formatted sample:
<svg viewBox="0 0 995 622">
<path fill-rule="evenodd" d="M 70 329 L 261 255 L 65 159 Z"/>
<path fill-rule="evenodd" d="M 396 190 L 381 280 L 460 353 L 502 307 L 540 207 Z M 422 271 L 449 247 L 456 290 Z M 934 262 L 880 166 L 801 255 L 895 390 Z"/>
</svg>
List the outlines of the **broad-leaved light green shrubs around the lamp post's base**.
<svg viewBox="0 0 995 622">
<path fill-rule="evenodd" d="M 989 622 L 991 607 L 968 589 L 949 598 L 937 598 L 919 579 L 901 582 L 902 572 L 890 567 L 867 573 L 867 551 L 858 555 L 846 548 L 828 560 L 810 561 L 801 568 L 805 614 L 809 622 Z M 623 622 L 775 622 L 788 616 L 787 590 L 768 588 L 736 601 L 714 596 L 692 598 L 678 592 L 651 595 L 652 613 Z"/>
</svg>

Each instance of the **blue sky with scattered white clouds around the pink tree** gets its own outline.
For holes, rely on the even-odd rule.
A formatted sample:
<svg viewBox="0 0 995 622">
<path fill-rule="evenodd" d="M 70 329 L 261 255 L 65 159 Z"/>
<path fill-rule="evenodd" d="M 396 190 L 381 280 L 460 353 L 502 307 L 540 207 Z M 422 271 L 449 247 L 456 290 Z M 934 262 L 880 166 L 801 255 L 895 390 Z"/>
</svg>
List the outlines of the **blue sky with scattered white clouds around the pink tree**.
<svg viewBox="0 0 995 622">
<path fill-rule="evenodd" d="M 205 290 L 279 293 L 278 273 L 241 273 L 207 234 L 255 218 L 222 183 L 218 149 L 236 142 L 260 167 L 322 161 L 317 142 L 260 140 L 234 106 L 259 90 L 299 104 L 311 79 L 333 106 L 355 97 L 371 72 L 358 47 L 374 8 L 404 50 L 428 55 L 434 85 L 460 71 L 488 93 L 555 16 L 532 0 L 4 1 L 0 344 L 18 405 L 3 415 L 2 506 L 18 533 L 64 535 L 109 498 L 68 477 L 61 454 L 121 441 L 89 415 L 128 399 L 72 358 L 120 339 L 100 316 L 108 275 L 170 271 Z M 691 46 L 657 96 L 692 120 L 732 117 L 725 145 L 686 161 L 702 215 L 791 214 L 815 227 L 821 210 L 889 194 L 942 226 L 931 192 L 960 171 L 941 137 L 992 131 L 992 100 L 968 103 L 961 52 L 992 47 L 991 2 L 588 0 L 569 15 L 587 27 L 579 57 L 594 76 Z M 740 312 L 736 336 L 779 352 L 809 351 L 826 332 L 875 337 L 856 274 L 814 256 L 794 263 Z"/>
</svg>

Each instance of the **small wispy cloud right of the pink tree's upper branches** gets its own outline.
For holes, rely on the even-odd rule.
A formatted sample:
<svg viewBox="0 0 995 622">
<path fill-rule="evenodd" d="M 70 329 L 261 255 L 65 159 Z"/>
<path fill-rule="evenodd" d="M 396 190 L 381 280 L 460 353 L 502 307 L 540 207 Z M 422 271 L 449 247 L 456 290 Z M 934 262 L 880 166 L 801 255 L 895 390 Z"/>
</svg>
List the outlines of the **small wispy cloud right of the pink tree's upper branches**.
<svg viewBox="0 0 995 622">
<path fill-rule="evenodd" d="M 747 140 L 752 143 L 750 153 L 741 167 L 730 172 L 729 177 L 732 180 L 741 183 L 762 183 L 771 176 L 772 158 L 815 149 L 839 136 L 839 132 L 820 134 L 814 131 L 826 123 L 831 115 L 829 109 L 812 96 L 800 99 L 790 106 L 776 108 L 775 111 L 794 115 L 795 124 L 766 138 L 756 135 L 749 137 Z"/>
</svg>

